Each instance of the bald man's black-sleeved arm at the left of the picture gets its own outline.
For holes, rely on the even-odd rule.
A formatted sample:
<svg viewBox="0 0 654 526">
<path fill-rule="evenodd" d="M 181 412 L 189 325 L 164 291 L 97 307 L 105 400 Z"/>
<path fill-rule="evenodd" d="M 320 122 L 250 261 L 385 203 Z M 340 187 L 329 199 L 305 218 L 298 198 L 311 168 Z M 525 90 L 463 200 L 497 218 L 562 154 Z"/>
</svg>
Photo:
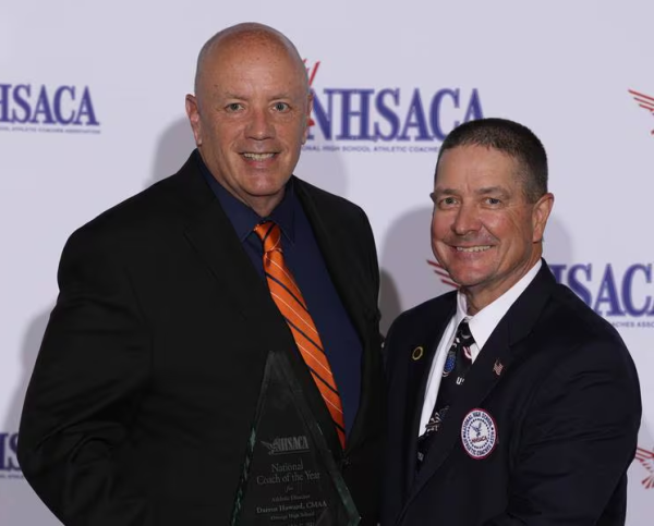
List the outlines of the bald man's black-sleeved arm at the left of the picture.
<svg viewBox="0 0 654 526">
<path fill-rule="evenodd" d="M 146 524 L 126 438 L 149 342 L 118 252 L 89 229 L 69 240 L 23 408 L 23 473 L 66 525 Z"/>
</svg>

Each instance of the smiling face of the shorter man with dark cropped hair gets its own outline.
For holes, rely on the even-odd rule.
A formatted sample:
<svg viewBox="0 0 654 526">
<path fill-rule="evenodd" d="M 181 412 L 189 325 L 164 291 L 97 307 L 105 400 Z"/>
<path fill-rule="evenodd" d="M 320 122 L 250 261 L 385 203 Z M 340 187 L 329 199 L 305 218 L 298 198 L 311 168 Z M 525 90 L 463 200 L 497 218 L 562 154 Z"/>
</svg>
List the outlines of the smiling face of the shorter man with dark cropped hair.
<svg viewBox="0 0 654 526">
<path fill-rule="evenodd" d="M 484 146 L 446 150 L 432 194 L 432 249 L 475 314 L 540 259 L 554 196 L 529 203 L 519 163 Z"/>
</svg>

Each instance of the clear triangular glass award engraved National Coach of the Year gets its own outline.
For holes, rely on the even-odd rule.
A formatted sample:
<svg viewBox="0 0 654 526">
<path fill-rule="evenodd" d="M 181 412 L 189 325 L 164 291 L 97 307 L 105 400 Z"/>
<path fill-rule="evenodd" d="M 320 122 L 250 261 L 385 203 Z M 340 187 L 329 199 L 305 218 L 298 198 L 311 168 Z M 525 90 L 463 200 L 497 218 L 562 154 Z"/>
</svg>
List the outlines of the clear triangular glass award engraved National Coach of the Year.
<svg viewBox="0 0 654 526">
<path fill-rule="evenodd" d="M 232 526 L 355 526 L 359 513 L 286 355 L 269 352 Z"/>
</svg>

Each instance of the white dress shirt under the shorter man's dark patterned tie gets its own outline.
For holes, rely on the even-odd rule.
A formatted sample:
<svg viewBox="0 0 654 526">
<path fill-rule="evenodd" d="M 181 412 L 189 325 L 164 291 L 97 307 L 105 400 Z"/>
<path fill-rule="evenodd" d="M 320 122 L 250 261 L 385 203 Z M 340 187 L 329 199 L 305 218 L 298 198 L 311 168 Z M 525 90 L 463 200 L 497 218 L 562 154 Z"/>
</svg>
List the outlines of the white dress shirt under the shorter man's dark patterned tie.
<svg viewBox="0 0 654 526">
<path fill-rule="evenodd" d="M 455 333 L 459 323 L 463 319 L 468 320 L 470 332 L 472 333 L 472 338 L 474 338 L 474 343 L 470 347 L 472 363 L 474 364 L 474 360 L 484 348 L 484 344 L 488 338 L 491 338 L 491 334 L 501 318 L 504 318 L 511 305 L 513 305 L 516 299 L 520 297 L 520 294 L 522 294 L 533 281 L 541 267 L 542 262 L 538 259 L 536 265 L 534 265 L 520 281 L 474 316 L 468 315 L 468 302 L 465 301 L 465 296 L 461 292 L 457 294 L 457 313 L 445 328 L 445 332 L 443 333 L 443 338 L 438 343 L 436 354 L 432 360 L 432 369 L 429 370 L 429 378 L 427 379 L 423 411 L 420 418 L 419 436 L 425 432 L 425 426 L 429 421 L 432 412 L 434 411 L 434 404 L 436 403 L 436 396 L 438 395 L 438 389 L 440 388 L 440 379 L 443 378 L 445 359 L 447 358 L 447 353 L 455 340 Z"/>
</svg>

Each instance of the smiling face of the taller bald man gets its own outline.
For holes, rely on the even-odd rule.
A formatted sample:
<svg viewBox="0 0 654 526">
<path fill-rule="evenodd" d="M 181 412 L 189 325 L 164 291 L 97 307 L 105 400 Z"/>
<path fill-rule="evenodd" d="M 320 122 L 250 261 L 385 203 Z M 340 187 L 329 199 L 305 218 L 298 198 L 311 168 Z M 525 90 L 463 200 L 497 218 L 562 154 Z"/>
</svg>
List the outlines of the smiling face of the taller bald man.
<svg viewBox="0 0 654 526">
<path fill-rule="evenodd" d="M 275 35 L 232 35 L 203 59 L 196 90 L 186 113 L 205 164 L 233 196 L 269 215 L 306 140 L 302 62 Z"/>
</svg>

